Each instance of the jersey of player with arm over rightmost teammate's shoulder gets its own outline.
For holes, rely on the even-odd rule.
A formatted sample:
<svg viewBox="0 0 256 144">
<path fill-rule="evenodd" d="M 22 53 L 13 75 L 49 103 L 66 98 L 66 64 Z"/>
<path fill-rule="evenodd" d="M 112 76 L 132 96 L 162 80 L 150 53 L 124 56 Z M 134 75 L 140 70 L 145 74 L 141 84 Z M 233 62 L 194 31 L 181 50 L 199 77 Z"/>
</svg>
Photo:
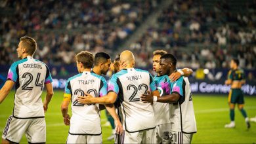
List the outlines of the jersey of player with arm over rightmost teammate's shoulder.
<svg viewBox="0 0 256 144">
<path fill-rule="evenodd" d="M 167 75 L 154 77 L 154 82 L 156 83 L 156 86 L 158 87 L 160 96 L 165 96 L 167 94 L 170 94 L 170 92 L 171 92 L 170 82 L 171 81 Z M 154 102 L 153 108 L 154 108 L 154 113 L 155 113 L 155 117 L 156 117 L 156 125 L 170 123 L 170 117 L 169 117 L 169 115 L 166 115 L 167 113 L 169 113 L 169 103 Z"/>
</svg>

